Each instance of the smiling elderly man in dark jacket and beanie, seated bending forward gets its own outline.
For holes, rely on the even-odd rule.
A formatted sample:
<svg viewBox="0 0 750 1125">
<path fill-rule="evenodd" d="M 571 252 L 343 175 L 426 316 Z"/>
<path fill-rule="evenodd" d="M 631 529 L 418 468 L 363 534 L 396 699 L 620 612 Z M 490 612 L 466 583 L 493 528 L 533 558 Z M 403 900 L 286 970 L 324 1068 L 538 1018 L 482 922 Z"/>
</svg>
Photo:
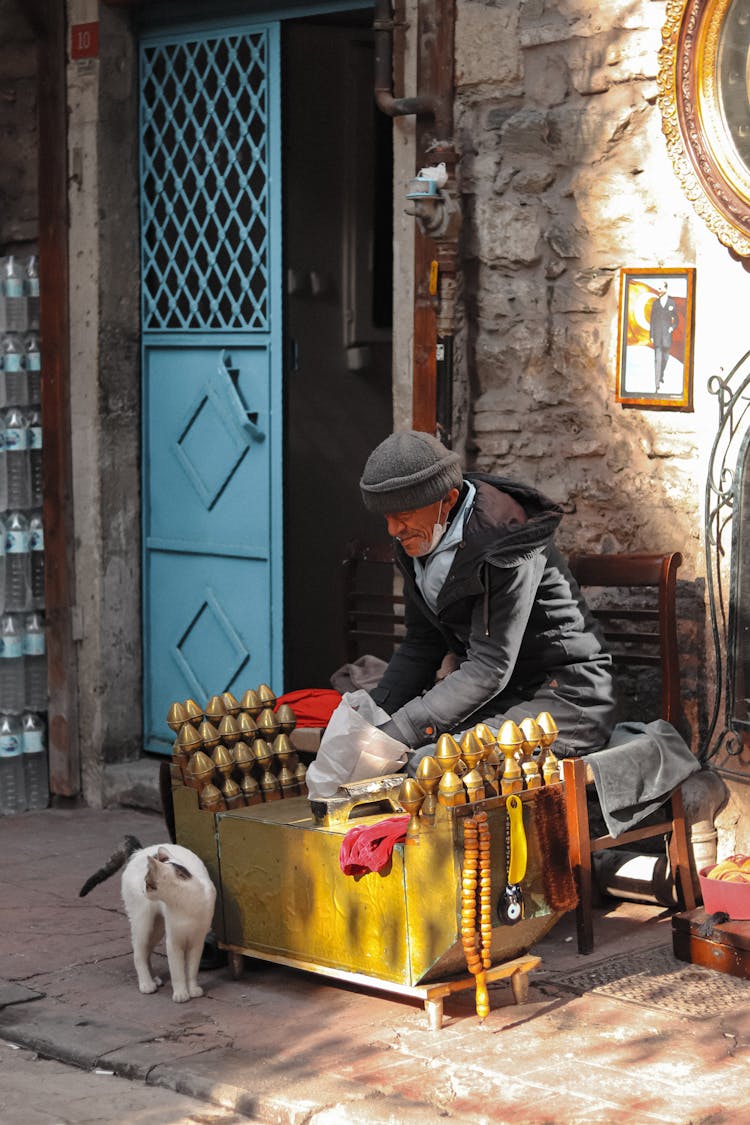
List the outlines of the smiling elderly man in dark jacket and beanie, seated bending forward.
<svg viewBox="0 0 750 1125">
<path fill-rule="evenodd" d="M 606 745 L 614 724 L 611 657 L 553 543 L 562 512 L 534 488 L 463 475 L 428 433 L 381 442 L 360 480 L 386 519 L 404 575 L 406 637 L 372 698 L 383 729 L 412 748 L 440 735 L 549 711 L 560 756 Z M 436 682 L 446 654 L 454 670 Z"/>
</svg>

